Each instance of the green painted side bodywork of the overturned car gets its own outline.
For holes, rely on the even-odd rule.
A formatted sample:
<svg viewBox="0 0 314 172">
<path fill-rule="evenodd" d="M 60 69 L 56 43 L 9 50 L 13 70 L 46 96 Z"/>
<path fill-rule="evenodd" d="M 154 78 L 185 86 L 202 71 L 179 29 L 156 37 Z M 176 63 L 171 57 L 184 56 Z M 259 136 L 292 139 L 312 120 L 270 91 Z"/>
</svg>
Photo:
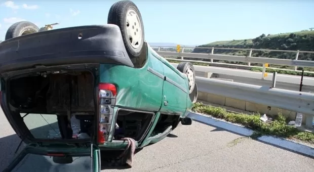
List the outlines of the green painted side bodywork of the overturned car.
<svg viewBox="0 0 314 172">
<path fill-rule="evenodd" d="M 138 144 L 138 147 L 144 147 L 150 142 L 155 143 L 166 137 L 166 135 L 160 138 L 149 137 L 161 113 L 179 115 L 180 118 L 184 118 L 193 106 L 189 99 L 186 75 L 174 68 L 149 46 L 147 46 L 147 62 L 142 68 L 101 64 L 100 82 L 119 85 L 116 106 L 156 112 L 148 136 Z M 151 92 L 152 88 L 154 92 Z M 167 106 L 165 102 L 168 103 Z M 118 107 L 114 108 L 113 114 L 116 114 L 118 109 Z M 109 140 L 112 140 L 111 137 L 109 136 Z M 121 144 L 106 142 L 104 147 L 121 149 L 126 145 L 125 142 Z"/>
</svg>

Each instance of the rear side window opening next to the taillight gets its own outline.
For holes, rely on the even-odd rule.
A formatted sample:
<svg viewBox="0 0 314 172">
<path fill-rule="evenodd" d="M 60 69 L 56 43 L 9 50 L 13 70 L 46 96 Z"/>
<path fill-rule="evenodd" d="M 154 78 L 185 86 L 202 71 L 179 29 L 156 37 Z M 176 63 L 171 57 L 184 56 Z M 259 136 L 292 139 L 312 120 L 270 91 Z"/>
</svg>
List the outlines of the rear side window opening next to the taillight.
<svg viewBox="0 0 314 172">
<path fill-rule="evenodd" d="M 113 140 L 132 138 L 135 141 L 141 141 L 148 132 L 152 117 L 152 113 L 119 110 Z"/>
</svg>

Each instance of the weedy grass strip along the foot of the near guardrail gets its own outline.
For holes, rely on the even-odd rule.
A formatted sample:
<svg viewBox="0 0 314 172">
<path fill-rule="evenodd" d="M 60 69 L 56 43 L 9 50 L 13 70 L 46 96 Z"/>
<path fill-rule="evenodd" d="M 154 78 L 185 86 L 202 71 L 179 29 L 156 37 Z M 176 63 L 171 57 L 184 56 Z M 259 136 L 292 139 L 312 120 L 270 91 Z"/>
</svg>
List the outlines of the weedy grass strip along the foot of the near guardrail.
<svg viewBox="0 0 314 172">
<path fill-rule="evenodd" d="M 211 115 L 215 118 L 224 119 L 232 123 L 242 124 L 254 131 L 254 134 L 251 136 L 253 139 L 268 135 L 288 139 L 298 139 L 314 144 L 313 133 L 302 132 L 294 126 L 287 125 L 287 119 L 282 114 L 278 114 L 277 118 L 271 123 L 265 123 L 259 119 L 260 114 L 258 113 L 253 115 L 231 113 L 226 111 L 224 108 L 207 106 L 202 103 L 195 103 L 192 111 Z"/>
</svg>

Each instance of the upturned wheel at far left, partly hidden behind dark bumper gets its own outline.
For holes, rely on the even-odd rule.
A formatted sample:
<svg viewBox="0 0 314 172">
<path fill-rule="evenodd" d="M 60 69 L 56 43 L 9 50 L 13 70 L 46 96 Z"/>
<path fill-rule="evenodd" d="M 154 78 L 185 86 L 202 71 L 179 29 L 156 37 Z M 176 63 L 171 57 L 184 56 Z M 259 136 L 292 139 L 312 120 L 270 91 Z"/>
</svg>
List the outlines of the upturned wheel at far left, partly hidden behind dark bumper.
<svg viewBox="0 0 314 172">
<path fill-rule="evenodd" d="M 36 33 L 39 28 L 32 22 L 20 21 L 11 25 L 6 33 L 5 40 L 25 34 Z"/>
</svg>

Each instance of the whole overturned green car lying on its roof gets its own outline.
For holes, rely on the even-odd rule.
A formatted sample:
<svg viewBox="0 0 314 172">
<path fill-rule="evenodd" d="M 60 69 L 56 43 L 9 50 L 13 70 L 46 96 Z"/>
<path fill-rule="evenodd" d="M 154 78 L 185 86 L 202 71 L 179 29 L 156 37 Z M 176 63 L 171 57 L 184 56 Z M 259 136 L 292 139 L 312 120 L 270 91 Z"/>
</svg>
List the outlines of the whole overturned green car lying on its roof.
<svg viewBox="0 0 314 172">
<path fill-rule="evenodd" d="M 100 171 L 106 151 L 131 141 L 140 149 L 190 125 L 198 97 L 193 66 L 174 68 L 149 47 L 131 1 L 113 4 L 107 25 L 13 24 L 0 73 L 1 107 L 27 144 L 5 171 Z"/>
</svg>

